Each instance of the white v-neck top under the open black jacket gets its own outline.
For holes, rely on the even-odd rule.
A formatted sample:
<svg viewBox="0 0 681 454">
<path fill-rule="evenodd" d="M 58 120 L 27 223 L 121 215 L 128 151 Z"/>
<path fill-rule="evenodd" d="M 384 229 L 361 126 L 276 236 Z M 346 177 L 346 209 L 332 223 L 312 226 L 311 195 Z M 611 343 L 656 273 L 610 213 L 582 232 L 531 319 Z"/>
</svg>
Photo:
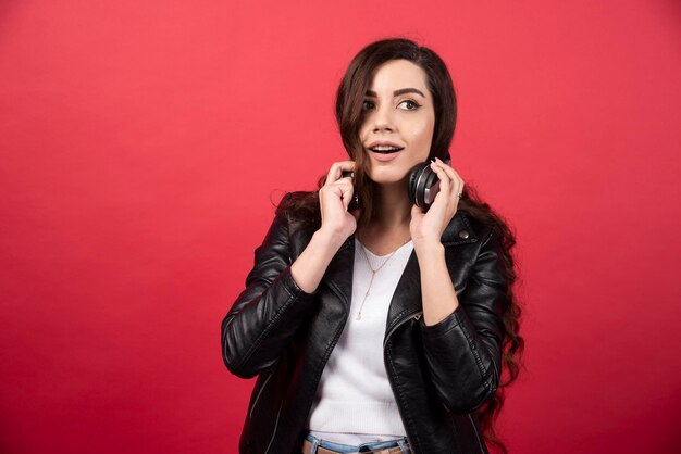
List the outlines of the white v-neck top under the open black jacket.
<svg viewBox="0 0 681 454">
<path fill-rule="evenodd" d="M 345 444 L 406 436 L 383 363 L 383 340 L 391 300 L 412 251 L 409 241 L 392 255 L 379 256 L 355 240 L 350 314 L 322 373 L 308 417 L 313 436 Z M 385 263 L 373 281 L 367 260 L 373 269 Z"/>
</svg>

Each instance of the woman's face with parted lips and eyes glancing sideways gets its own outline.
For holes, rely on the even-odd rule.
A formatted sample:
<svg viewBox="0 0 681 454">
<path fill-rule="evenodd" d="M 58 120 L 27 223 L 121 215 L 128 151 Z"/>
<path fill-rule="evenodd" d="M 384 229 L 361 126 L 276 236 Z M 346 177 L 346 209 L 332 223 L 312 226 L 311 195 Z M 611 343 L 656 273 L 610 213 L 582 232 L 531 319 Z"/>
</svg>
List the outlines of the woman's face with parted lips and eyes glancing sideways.
<svg viewBox="0 0 681 454">
<path fill-rule="evenodd" d="M 369 156 L 369 177 L 379 184 L 404 180 L 428 159 L 435 109 L 425 72 L 408 60 L 391 60 L 373 75 L 363 103 L 359 138 Z"/>
</svg>

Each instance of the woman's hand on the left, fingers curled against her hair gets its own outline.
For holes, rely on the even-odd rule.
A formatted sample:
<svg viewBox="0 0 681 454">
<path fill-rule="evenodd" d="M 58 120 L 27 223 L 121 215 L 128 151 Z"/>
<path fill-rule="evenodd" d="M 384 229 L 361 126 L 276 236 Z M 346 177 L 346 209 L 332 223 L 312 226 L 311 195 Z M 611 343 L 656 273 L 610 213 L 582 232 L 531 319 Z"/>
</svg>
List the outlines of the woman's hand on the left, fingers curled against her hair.
<svg viewBox="0 0 681 454">
<path fill-rule="evenodd" d="M 359 212 L 348 212 L 355 188 L 350 177 L 343 172 L 354 172 L 355 161 L 335 162 L 326 175 L 326 181 L 319 190 L 319 204 L 322 214 L 320 231 L 333 239 L 345 241 L 357 229 Z"/>
</svg>

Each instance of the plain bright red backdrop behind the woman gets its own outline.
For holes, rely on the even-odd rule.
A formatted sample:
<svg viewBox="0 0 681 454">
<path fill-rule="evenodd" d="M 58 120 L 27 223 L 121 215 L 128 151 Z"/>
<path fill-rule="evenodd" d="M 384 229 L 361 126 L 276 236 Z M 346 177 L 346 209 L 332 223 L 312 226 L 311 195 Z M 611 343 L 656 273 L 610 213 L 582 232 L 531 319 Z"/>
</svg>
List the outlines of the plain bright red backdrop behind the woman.
<svg viewBox="0 0 681 454">
<path fill-rule="evenodd" d="M 474 3 L 474 4 L 473 4 Z M 453 164 L 518 234 L 511 453 L 681 450 L 676 1 L 0 3 L 0 451 L 236 452 L 220 321 L 345 159 L 334 90 L 393 35 L 447 62 Z"/>
</svg>

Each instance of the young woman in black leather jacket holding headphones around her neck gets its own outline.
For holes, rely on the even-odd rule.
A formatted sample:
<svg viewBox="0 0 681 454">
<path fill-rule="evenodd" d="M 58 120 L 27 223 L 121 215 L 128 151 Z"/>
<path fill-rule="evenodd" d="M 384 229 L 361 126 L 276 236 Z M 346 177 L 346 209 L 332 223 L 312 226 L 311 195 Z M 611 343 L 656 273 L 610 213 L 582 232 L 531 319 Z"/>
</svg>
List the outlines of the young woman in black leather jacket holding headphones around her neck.
<svg viewBox="0 0 681 454">
<path fill-rule="evenodd" d="M 515 238 L 447 164 L 446 65 L 410 40 L 371 43 L 336 118 L 350 160 L 284 197 L 222 323 L 227 368 L 258 376 L 240 452 L 505 451 L 492 420 L 523 345 Z M 409 196 L 423 162 L 430 206 Z"/>
</svg>

